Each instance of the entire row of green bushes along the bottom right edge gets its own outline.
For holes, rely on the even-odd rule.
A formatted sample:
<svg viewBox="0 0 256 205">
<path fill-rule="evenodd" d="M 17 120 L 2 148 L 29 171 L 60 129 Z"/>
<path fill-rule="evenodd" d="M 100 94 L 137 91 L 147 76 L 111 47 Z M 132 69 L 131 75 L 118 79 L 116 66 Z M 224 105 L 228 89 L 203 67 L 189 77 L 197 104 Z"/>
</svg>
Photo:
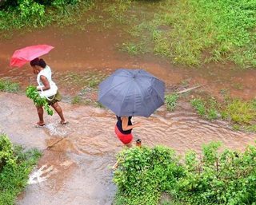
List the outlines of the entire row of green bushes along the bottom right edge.
<svg viewBox="0 0 256 205">
<path fill-rule="evenodd" d="M 180 204 L 255 204 L 256 148 L 219 152 L 219 143 L 203 146 L 202 158 L 187 152 L 185 160 L 170 148 L 130 148 L 118 155 L 114 183 L 116 205 L 155 205 L 162 192 Z"/>
</svg>

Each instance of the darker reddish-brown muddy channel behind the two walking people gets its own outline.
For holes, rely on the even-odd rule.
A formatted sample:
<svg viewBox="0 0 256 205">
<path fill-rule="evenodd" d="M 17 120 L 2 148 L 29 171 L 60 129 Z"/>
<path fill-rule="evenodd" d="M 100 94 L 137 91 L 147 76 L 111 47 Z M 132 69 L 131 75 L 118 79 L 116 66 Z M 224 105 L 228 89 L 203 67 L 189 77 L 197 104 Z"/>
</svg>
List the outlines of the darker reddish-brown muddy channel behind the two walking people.
<svg viewBox="0 0 256 205">
<path fill-rule="evenodd" d="M 166 85 L 178 85 L 186 81 L 190 86 L 203 85 L 206 91 L 215 96 L 221 90 L 245 99 L 255 96 L 256 70 L 235 70 L 235 66 L 230 64 L 209 64 L 192 69 L 172 65 L 168 60 L 150 54 L 130 56 L 117 47 L 124 38 L 127 39 L 122 29 L 118 26 L 111 30 L 98 29 L 98 26 L 87 26 L 84 31 L 50 27 L 27 34 L 14 34 L 10 40 L 0 41 L 0 77 L 11 78 L 24 86 L 33 83 L 30 66 L 10 69 L 10 57 L 15 49 L 26 45 L 49 44 L 55 49 L 44 58 L 55 73 L 98 70 L 109 74 L 121 67 L 143 68 L 166 81 Z"/>
</svg>

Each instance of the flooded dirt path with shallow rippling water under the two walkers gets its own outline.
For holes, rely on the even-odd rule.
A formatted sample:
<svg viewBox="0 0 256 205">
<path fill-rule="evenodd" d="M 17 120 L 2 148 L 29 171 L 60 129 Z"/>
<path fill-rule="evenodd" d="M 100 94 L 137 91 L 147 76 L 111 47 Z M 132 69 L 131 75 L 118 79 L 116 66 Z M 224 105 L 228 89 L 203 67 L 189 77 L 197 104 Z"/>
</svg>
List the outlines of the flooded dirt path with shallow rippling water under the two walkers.
<svg viewBox="0 0 256 205">
<path fill-rule="evenodd" d="M 114 135 L 112 112 L 61 103 L 69 124 L 58 124 L 54 113 L 45 116 L 46 128 L 34 128 L 38 116 L 29 99 L 0 93 L 0 101 L 0 132 L 6 132 L 15 143 L 44 153 L 17 204 L 111 204 L 116 187 L 109 167 L 122 150 Z M 201 120 L 186 106 L 165 116 L 161 109 L 147 119 L 134 117 L 143 124 L 134 129 L 134 140 L 141 138 L 149 146 L 164 144 L 182 155 L 190 149 L 200 153 L 202 144 L 212 140 L 242 150 L 256 139 L 255 134 L 232 131 L 226 123 Z"/>
</svg>

